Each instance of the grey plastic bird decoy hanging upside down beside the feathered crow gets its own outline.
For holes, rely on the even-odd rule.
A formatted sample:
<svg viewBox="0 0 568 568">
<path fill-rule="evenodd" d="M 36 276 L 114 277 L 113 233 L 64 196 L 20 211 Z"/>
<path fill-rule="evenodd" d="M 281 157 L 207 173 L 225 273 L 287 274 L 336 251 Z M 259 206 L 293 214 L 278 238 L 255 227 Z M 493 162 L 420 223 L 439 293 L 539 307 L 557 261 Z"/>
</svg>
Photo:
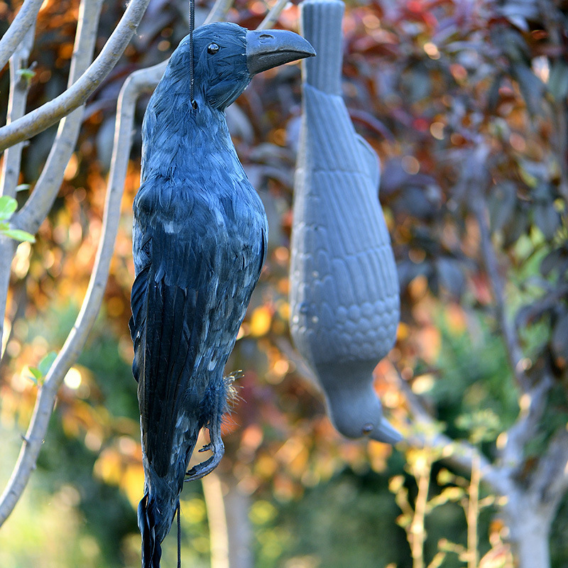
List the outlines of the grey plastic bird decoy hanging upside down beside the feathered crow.
<svg viewBox="0 0 568 568">
<path fill-rule="evenodd" d="M 347 437 L 401 437 L 383 417 L 373 369 L 400 315 L 391 239 L 378 202 L 376 153 L 341 96 L 340 0 L 305 0 L 302 130 L 295 177 L 290 331 L 315 371 L 334 426 Z"/>
</svg>

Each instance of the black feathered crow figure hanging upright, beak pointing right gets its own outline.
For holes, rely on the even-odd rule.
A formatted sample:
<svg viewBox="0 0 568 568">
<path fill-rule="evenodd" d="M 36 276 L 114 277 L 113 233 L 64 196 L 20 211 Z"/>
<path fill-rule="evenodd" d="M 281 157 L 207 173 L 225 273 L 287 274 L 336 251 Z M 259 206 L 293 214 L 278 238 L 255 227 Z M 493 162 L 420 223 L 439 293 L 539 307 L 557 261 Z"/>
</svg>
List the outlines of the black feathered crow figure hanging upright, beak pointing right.
<svg viewBox="0 0 568 568">
<path fill-rule="evenodd" d="M 268 226 L 226 126 L 224 109 L 251 77 L 310 55 L 288 31 L 212 23 L 170 58 L 143 121 L 141 182 L 133 204 L 130 322 L 138 381 L 144 568 L 160 566 L 184 480 L 222 457 L 229 384 L 224 366 L 266 256 Z M 187 471 L 200 430 L 212 456 Z"/>
</svg>

